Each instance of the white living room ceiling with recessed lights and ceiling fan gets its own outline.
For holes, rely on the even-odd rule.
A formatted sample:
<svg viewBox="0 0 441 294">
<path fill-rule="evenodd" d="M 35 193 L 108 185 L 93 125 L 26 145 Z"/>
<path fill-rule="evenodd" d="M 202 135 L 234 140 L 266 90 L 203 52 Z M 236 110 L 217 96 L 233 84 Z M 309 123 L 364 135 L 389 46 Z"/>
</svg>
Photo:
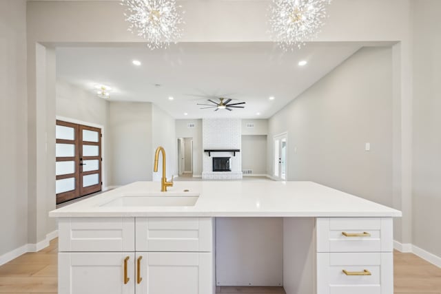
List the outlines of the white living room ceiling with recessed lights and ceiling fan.
<svg viewBox="0 0 441 294">
<path fill-rule="evenodd" d="M 360 47 L 309 43 L 294 52 L 274 43 L 179 43 L 154 51 L 140 45 L 57 48 L 57 78 L 91 93 L 96 84 L 108 85 L 114 88 L 111 101 L 150 101 L 174 118 L 269 118 Z M 133 59 L 142 65 L 136 67 Z M 307 65 L 298 66 L 300 60 Z M 245 101 L 245 109 L 199 109 L 203 96 Z"/>
</svg>

